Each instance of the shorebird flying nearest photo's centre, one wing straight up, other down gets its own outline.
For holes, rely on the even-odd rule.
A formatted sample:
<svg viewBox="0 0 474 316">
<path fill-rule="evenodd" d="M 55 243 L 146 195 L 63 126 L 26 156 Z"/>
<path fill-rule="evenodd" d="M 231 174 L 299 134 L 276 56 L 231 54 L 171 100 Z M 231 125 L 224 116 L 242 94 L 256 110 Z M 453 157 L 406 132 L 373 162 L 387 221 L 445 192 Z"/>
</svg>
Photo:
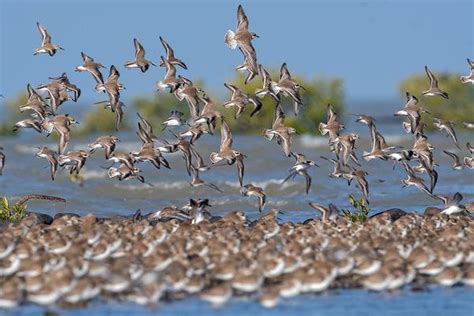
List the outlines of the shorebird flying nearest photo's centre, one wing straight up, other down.
<svg viewBox="0 0 474 316">
<path fill-rule="evenodd" d="M 212 152 L 209 159 L 213 164 L 220 161 L 225 161 L 228 165 L 237 165 L 237 173 L 239 176 L 240 186 L 243 185 L 244 178 L 244 158 L 245 155 L 241 152 L 232 149 L 232 133 L 229 125 L 227 125 L 224 119 L 221 119 L 221 145 L 219 152 Z"/>
</svg>

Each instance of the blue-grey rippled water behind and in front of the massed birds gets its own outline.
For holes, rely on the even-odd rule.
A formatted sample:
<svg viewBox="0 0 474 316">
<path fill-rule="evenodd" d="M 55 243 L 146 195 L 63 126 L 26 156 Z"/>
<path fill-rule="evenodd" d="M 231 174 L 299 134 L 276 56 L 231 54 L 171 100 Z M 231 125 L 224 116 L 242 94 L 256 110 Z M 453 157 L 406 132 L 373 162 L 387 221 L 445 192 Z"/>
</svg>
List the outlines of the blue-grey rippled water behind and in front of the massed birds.
<svg viewBox="0 0 474 316">
<path fill-rule="evenodd" d="M 369 112 L 371 113 L 371 112 Z M 393 118 L 377 117 L 378 130 L 385 136 L 389 145 L 401 145 L 411 148 L 412 136 L 401 129 L 401 121 Z M 370 208 L 372 213 L 388 208 L 398 207 L 405 211 L 423 212 L 428 206 L 438 206 L 433 200 L 416 188 L 402 188 L 401 180 L 406 177 L 400 166 L 393 169 L 390 161 L 362 159 L 362 152 L 369 150 L 370 136 L 367 126 L 351 123 L 353 117 L 346 117 L 345 132 L 359 133 L 358 157 L 370 186 Z M 262 127 L 263 128 L 263 127 Z M 219 132 L 217 132 L 219 133 Z M 319 134 L 319 133 L 318 133 Z M 320 158 L 330 157 L 327 138 L 323 136 L 298 135 L 294 138 L 294 152 L 304 153 L 308 159 L 314 160 L 320 168 L 313 167 L 309 174 L 313 184 L 308 195 L 305 194 L 305 181 L 297 176 L 294 180 L 281 184 L 288 175 L 288 169 L 294 163 L 286 158 L 276 142 L 269 142 L 260 136 L 234 137 L 234 148 L 247 155 L 245 160 L 245 183 L 261 186 L 267 194 L 266 210 L 279 208 L 284 211 L 281 221 L 304 221 L 316 216 L 308 202 L 321 204 L 334 203 L 340 208 L 349 208 L 348 195 L 361 197 L 355 183 L 351 186 L 341 179 L 328 177 L 333 165 Z M 87 149 L 87 144 L 98 135 L 84 138 L 74 137 L 69 150 Z M 139 149 L 141 143 L 134 132 L 119 133 L 121 142 L 116 151 L 132 151 Z M 462 151 L 458 150 L 444 132 L 428 132 L 429 141 L 436 147 L 435 160 L 438 163 L 439 180 L 435 193 L 452 195 L 459 191 L 464 195 L 463 202 L 474 202 L 474 170 L 455 171 L 451 169 L 452 160 L 443 149 L 467 156 L 467 141 L 474 142 L 474 134 L 458 133 Z M 170 134 L 162 134 L 172 140 Z M 209 162 L 209 154 L 218 150 L 220 136 L 204 135 L 197 143 L 197 151 Z M 0 146 L 5 148 L 7 155 L 4 175 L 0 177 L 0 195 L 18 198 L 25 194 L 41 193 L 63 197 L 67 203 L 49 203 L 32 201 L 29 210 L 48 214 L 57 212 L 74 212 L 80 215 L 95 213 L 99 216 L 115 214 L 132 215 L 137 209 L 148 213 L 169 205 L 181 206 L 189 198 L 209 198 L 211 212 L 222 215 L 232 210 L 244 210 L 253 219 L 259 216 L 257 201 L 239 194 L 237 169 L 235 166 L 217 167 L 201 173 L 201 178 L 219 186 L 224 192 L 219 193 L 207 187 L 192 188 L 189 185 L 184 160 L 181 154 L 168 154 L 171 170 L 157 170 L 148 163 L 139 167 L 143 170 L 145 180 L 151 185 L 142 184 L 137 180 L 118 181 L 108 179 L 107 170 L 110 162 L 105 161 L 104 153 L 98 150 L 87 161 L 82 171 L 83 183 L 72 182 L 67 170 L 59 170 L 56 181 L 49 177 L 49 165 L 45 159 L 37 158 L 34 153 L 36 146 L 57 148 L 53 137 L 46 138 L 32 131 L 22 131 L 16 138 L 0 138 Z M 429 180 L 427 179 L 427 183 Z M 53 309 L 55 310 L 55 309 Z M 37 306 L 25 306 L 12 311 L 0 311 L 8 315 L 37 315 L 45 311 Z M 60 314 L 93 315 L 93 314 L 176 314 L 176 315 L 474 315 L 474 289 L 455 287 L 442 289 L 433 287 L 423 292 L 412 292 L 405 289 L 397 293 L 369 293 L 365 290 L 329 291 L 318 296 L 299 296 L 282 300 L 272 310 L 260 307 L 249 300 L 234 299 L 222 308 L 214 309 L 198 298 L 160 304 L 154 308 L 139 307 L 124 303 L 93 302 L 85 309 L 60 310 Z"/>
</svg>

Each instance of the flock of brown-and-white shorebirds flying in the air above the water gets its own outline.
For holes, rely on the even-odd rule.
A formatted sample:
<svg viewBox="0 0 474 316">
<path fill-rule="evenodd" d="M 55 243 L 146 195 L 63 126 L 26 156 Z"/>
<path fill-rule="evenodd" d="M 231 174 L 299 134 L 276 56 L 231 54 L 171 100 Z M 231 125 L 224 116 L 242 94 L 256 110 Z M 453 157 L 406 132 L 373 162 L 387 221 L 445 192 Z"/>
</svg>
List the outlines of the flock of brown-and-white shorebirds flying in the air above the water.
<svg viewBox="0 0 474 316">
<path fill-rule="evenodd" d="M 34 54 L 47 53 L 54 56 L 59 45 L 51 43 L 51 35 L 46 28 L 37 23 L 41 33 L 41 47 L 34 50 Z M 285 99 L 293 103 L 293 112 L 298 115 L 303 102 L 300 96 L 300 90 L 304 89 L 296 82 L 286 63 L 280 68 L 280 77 L 274 81 L 264 67 L 257 62 L 256 50 L 252 44 L 253 39 L 258 38 L 253 32 L 248 30 L 249 21 L 244 13 L 242 6 L 237 10 L 237 29 L 227 31 L 225 34 L 225 43 L 230 48 L 239 48 L 243 54 L 244 61 L 242 65 L 236 67 L 236 70 L 247 72 L 245 84 L 259 76 L 262 80 L 262 88 L 255 93 L 245 93 L 239 87 L 225 83 L 225 87 L 231 92 L 230 100 L 223 104 L 224 108 L 236 108 L 235 119 L 238 120 L 246 107 L 251 104 L 254 106 L 250 114 L 252 119 L 258 119 L 255 115 L 262 109 L 262 99 L 270 97 L 275 101 L 275 116 L 271 128 L 263 130 L 263 136 L 269 141 L 276 140 L 281 146 L 285 156 L 294 157 L 295 163 L 289 170 L 289 175 L 284 179 L 286 182 L 294 179 L 296 176 L 302 176 L 306 181 L 306 193 L 311 188 L 311 176 L 308 170 L 317 164 L 308 160 L 304 154 L 295 153 L 292 150 L 292 138 L 296 130 L 285 124 L 285 112 L 282 102 Z M 48 160 L 51 166 L 51 179 L 54 180 L 59 167 L 69 169 L 71 174 L 79 174 L 90 155 L 99 148 L 105 149 L 105 159 L 118 164 L 108 168 L 110 178 L 118 180 L 136 178 L 145 182 L 141 170 L 137 167 L 138 163 L 150 162 L 153 166 L 170 168 L 170 165 L 164 155 L 167 153 L 181 152 L 183 154 L 186 171 L 191 177 L 191 185 L 207 186 L 216 191 L 221 189 L 213 183 L 208 183 L 200 178 L 200 173 L 206 172 L 219 165 L 235 165 L 237 167 L 238 181 L 241 187 L 241 194 L 245 196 L 256 197 L 259 201 L 259 210 L 262 211 L 265 205 L 265 192 L 262 188 L 252 184 L 244 185 L 244 161 L 247 156 L 236 150 L 233 146 L 233 137 L 231 130 L 226 123 L 218 105 L 199 87 L 193 85 L 193 82 L 182 75 L 176 74 L 176 66 L 187 69 L 186 64 L 175 56 L 172 47 L 160 37 L 160 41 L 166 51 L 166 57 L 161 56 L 160 67 L 166 69 L 163 80 L 156 83 L 157 90 L 169 89 L 178 100 L 185 100 L 189 106 L 190 118 L 185 120 L 185 114 L 174 110 L 171 116 L 163 122 L 163 127 L 175 138 L 172 141 L 158 138 L 149 121 L 139 113 L 139 123 L 137 135 L 142 141 L 142 146 L 132 152 L 118 152 L 116 145 L 119 139 L 113 135 L 98 137 L 93 143 L 89 144 L 89 150 L 66 151 L 70 142 L 71 128 L 78 123 L 68 114 L 59 114 L 60 106 L 68 101 L 77 101 L 81 95 L 81 89 L 69 81 L 66 73 L 59 77 L 50 78 L 52 81 L 42 84 L 36 89 L 28 84 L 28 101 L 19 107 L 20 112 L 27 112 L 30 118 L 21 120 L 15 124 L 14 129 L 31 128 L 38 133 L 45 133 L 49 136 L 55 131 L 59 136 L 58 149 L 53 150 L 48 147 L 40 147 L 36 156 Z M 134 39 L 135 59 L 125 63 L 125 68 L 139 68 L 146 72 L 150 65 L 157 66 L 152 61 L 145 59 L 145 49 L 141 43 Z M 94 59 L 84 52 L 81 52 L 83 64 L 76 67 L 78 72 L 89 72 L 96 81 L 96 91 L 104 92 L 108 100 L 100 101 L 105 108 L 110 108 L 116 114 L 116 129 L 119 130 L 124 111 L 124 104 L 120 100 L 120 91 L 125 86 L 119 82 L 120 73 L 112 65 L 109 69 L 109 76 L 104 80 L 101 69 L 104 66 L 95 62 Z M 474 63 L 468 59 L 471 72 L 468 76 L 462 76 L 461 82 L 474 83 Z M 428 67 L 425 67 L 429 79 L 429 89 L 422 92 L 427 97 L 448 98 L 448 93 L 443 91 L 438 84 L 435 75 Z M 366 124 L 370 130 L 371 150 L 363 153 L 363 158 L 367 161 L 372 159 L 393 160 L 399 162 L 406 170 L 407 178 L 402 180 L 404 186 L 415 186 L 429 196 L 439 199 L 445 204 L 445 212 L 448 214 L 461 212 L 464 210 L 462 205 L 456 199 L 451 197 L 434 194 L 434 189 L 438 179 L 436 163 L 433 159 L 433 146 L 428 142 L 428 137 L 424 133 L 426 123 L 422 120 L 422 115 L 428 113 L 420 106 L 418 98 L 412 93 L 407 92 L 407 101 L 404 108 L 395 113 L 396 116 L 405 117 L 403 128 L 407 133 L 414 135 L 413 148 L 407 149 L 400 146 L 390 146 L 386 143 L 383 135 L 377 131 L 375 119 L 368 115 L 359 115 L 356 122 Z M 49 102 L 48 102 L 49 100 Z M 434 127 L 445 131 L 453 140 L 454 144 L 460 148 L 454 122 L 434 118 Z M 196 142 L 203 134 L 213 135 L 220 122 L 221 144 L 219 151 L 212 152 L 209 156 L 210 165 L 206 164 L 202 156 L 196 150 Z M 466 127 L 472 128 L 472 123 L 465 123 Z M 178 127 L 184 127 L 184 130 L 178 131 Z M 334 153 L 334 158 L 321 157 L 334 164 L 334 171 L 331 177 L 342 178 L 350 184 L 355 180 L 361 190 L 361 193 L 369 203 L 369 183 L 366 180 L 367 172 L 361 168 L 356 154 L 356 142 L 359 136 L 355 133 L 342 133 L 344 126 L 338 121 L 338 116 L 331 105 L 327 107 L 327 122 L 320 123 L 319 131 L 322 135 L 329 135 L 329 147 Z M 473 151 L 470 143 L 466 144 L 469 155 L 458 157 L 455 153 L 444 151 L 453 158 L 453 168 L 460 170 L 464 167 L 472 169 L 474 167 Z M 410 162 L 417 161 L 419 164 L 412 166 Z M 5 165 L 5 154 L 0 152 L 0 173 Z M 430 184 L 426 185 L 423 178 L 417 174 L 426 173 L 430 178 Z M 461 195 L 457 195 L 458 197 Z M 461 196 L 462 197 L 462 196 Z"/>
</svg>

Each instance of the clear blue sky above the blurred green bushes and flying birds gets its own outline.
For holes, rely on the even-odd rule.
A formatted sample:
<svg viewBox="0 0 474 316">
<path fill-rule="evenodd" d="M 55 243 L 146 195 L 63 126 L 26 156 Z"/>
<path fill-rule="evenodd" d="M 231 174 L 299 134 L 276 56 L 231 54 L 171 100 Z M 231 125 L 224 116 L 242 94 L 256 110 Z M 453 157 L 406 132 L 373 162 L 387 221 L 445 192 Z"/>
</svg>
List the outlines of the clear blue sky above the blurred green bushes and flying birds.
<svg viewBox="0 0 474 316">
<path fill-rule="evenodd" d="M 83 89 L 83 100 L 97 100 L 89 74 L 74 73 L 84 51 L 96 61 L 119 66 L 124 97 L 152 94 L 162 68 L 126 70 L 138 38 L 148 59 L 164 54 L 158 36 L 175 49 L 189 70 L 216 92 L 233 78 L 240 52 L 223 43 L 235 29 L 242 3 L 259 63 L 307 77 L 344 79 L 348 100 L 398 96 L 398 83 L 425 64 L 435 71 L 467 73 L 474 58 L 474 1 L 0 1 L 0 93 L 14 95 L 27 83 L 67 72 Z M 66 50 L 54 57 L 33 56 L 40 44 L 36 21 Z M 180 70 L 178 70 L 180 71 Z M 105 74 L 104 74 L 105 75 Z"/>
</svg>

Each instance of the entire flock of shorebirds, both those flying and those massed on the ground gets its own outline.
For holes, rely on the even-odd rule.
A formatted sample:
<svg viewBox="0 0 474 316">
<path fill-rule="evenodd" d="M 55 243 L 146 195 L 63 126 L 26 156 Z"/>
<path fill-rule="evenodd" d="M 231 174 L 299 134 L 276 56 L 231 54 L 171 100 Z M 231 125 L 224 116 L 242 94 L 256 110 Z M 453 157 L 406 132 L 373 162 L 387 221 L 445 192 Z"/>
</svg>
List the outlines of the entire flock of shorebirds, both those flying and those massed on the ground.
<svg viewBox="0 0 474 316">
<path fill-rule="evenodd" d="M 302 176 L 306 193 L 311 188 L 308 170 L 317 166 L 302 153 L 292 150 L 296 130 L 285 124 L 283 101 L 290 100 L 293 112 L 298 115 L 303 102 L 300 90 L 286 63 L 281 66 L 280 77 L 274 81 L 257 62 L 252 41 L 258 36 L 248 30 L 249 22 L 242 6 L 237 10 L 237 29 L 225 34 L 230 48 L 239 48 L 243 54 L 238 71 L 247 72 L 245 84 L 259 76 L 262 88 L 245 93 L 239 87 L 225 84 L 231 92 L 225 108 L 236 108 L 238 120 L 248 105 L 253 105 L 250 116 L 258 119 L 262 99 L 275 101 L 275 116 L 270 128 L 263 131 L 269 141 L 275 140 L 286 157 L 295 162 L 283 182 Z M 54 56 L 60 46 L 51 43 L 51 36 L 38 23 L 41 47 L 34 54 Z M 138 138 L 142 145 L 129 153 L 116 151 L 119 138 L 113 135 L 98 137 L 88 150 L 67 151 L 71 127 L 78 123 L 68 114 L 59 114 L 61 105 L 77 101 L 81 90 L 69 81 L 66 73 L 50 78 L 52 81 L 33 88 L 27 87 L 28 101 L 20 106 L 30 118 L 15 124 L 15 129 L 31 128 L 38 133 L 59 136 L 58 149 L 40 147 L 36 153 L 50 164 L 51 179 L 58 167 L 79 174 L 87 159 L 98 149 L 104 149 L 105 159 L 113 162 L 108 168 L 110 178 L 118 180 L 145 178 L 137 164 L 149 162 L 157 169 L 171 168 L 165 155 L 180 152 L 193 187 L 206 186 L 221 189 L 200 178 L 200 173 L 216 166 L 236 166 L 240 192 L 255 197 L 258 209 L 263 211 L 266 202 L 264 190 L 245 184 L 244 161 L 247 156 L 233 146 L 229 125 L 218 105 L 193 82 L 176 74 L 176 66 L 187 69 L 175 57 L 171 46 L 160 37 L 166 51 L 158 66 L 166 69 L 163 80 L 156 83 L 157 90 L 169 90 L 178 100 L 189 105 L 190 118 L 174 110 L 163 122 L 164 129 L 173 135 L 172 141 L 158 138 L 153 126 L 138 113 Z M 150 65 L 145 50 L 134 39 L 135 59 L 126 62 L 125 68 L 139 68 L 146 72 Z M 76 71 L 89 72 L 97 82 L 96 91 L 105 92 L 108 100 L 101 101 L 106 109 L 116 114 L 119 130 L 124 112 L 119 83 L 120 73 L 110 66 L 104 80 L 104 66 L 81 53 L 83 64 Z M 474 84 L 474 63 L 468 59 L 471 73 L 462 76 L 463 83 Z M 157 66 L 157 67 L 158 67 Z M 425 67 L 429 89 L 421 94 L 427 97 L 448 98 L 436 77 Z M 199 294 L 214 305 L 221 305 L 232 296 L 257 297 L 266 307 L 275 306 L 281 298 L 300 293 L 319 293 L 329 288 L 365 287 L 373 291 L 396 290 L 407 284 L 422 286 L 436 282 L 445 286 L 463 282 L 474 286 L 473 221 L 468 216 L 444 216 L 472 211 L 473 205 L 461 204 L 459 192 L 453 196 L 435 194 L 438 172 L 433 157 L 433 146 L 424 133 L 423 109 L 418 98 L 407 92 L 406 104 L 396 116 L 406 118 L 403 128 L 413 134 L 412 148 L 388 145 L 377 130 L 374 118 L 357 115 L 356 122 L 366 124 L 371 136 L 371 149 L 363 152 L 363 159 L 382 159 L 399 163 L 406 171 L 403 186 L 415 186 L 422 192 L 440 200 L 443 208 L 432 216 L 407 214 L 403 211 L 383 212 L 364 224 L 352 223 L 340 217 L 336 206 L 310 203 L 321 212 L 321 220 L 304 223 L 277 222 L 279 211 L 272 209 L 250 222 L 245 213 L 231 212 L 223 217 L 212 216 L 207 199 L 193 200 L 183 207 L 170 206 L 133 218 L 97 218 L 94 215 L 79 217 L 74 214 L 57 214 L 53 218 L 29 213 L 19 223 L 10 223 L 0 232 L 0 308 L 14 307 L 24 302 L 42 305 L 62 304 L 82 306 L 94 298 L 117 298 L 137 304 L 154 305 L 159 301 L 182 299 Z M 255 117 L 254 117 L 255 116 Z M 220 123 L 221 144 L 209 156 L 206 164 L 196 149 L 203 134 L 213 135 Z M 473 128 L 472 123 L 465 124 Z M 177 127 L 184 128 L 179 131 Z M 435 119 L 434 127 L 445 131 L 460 148 L 454 123 Z M 327 106 L 327 121 L 319 124 L 322 135 L 329 136 L 333 158 L 321 158 L 334 164 L 331 177 L 357 182 L 369 203 L 367 172 L 361 167 L 356 153 L 359 136 L 342 133 L 343 124 L 331 105 Z M 453 158 L 453 169 L 472 169 L 474 148 L 466 144 L 469 155 Z M 5 154 L 0 148 L 0 175 L 5 165 Z M 417 164 L 414 165 L 413 162 Z M 117 165 L 115 165 L 117 164 Z M 427 174 L 429 184 L 418 176 Z"/>
</svg>

